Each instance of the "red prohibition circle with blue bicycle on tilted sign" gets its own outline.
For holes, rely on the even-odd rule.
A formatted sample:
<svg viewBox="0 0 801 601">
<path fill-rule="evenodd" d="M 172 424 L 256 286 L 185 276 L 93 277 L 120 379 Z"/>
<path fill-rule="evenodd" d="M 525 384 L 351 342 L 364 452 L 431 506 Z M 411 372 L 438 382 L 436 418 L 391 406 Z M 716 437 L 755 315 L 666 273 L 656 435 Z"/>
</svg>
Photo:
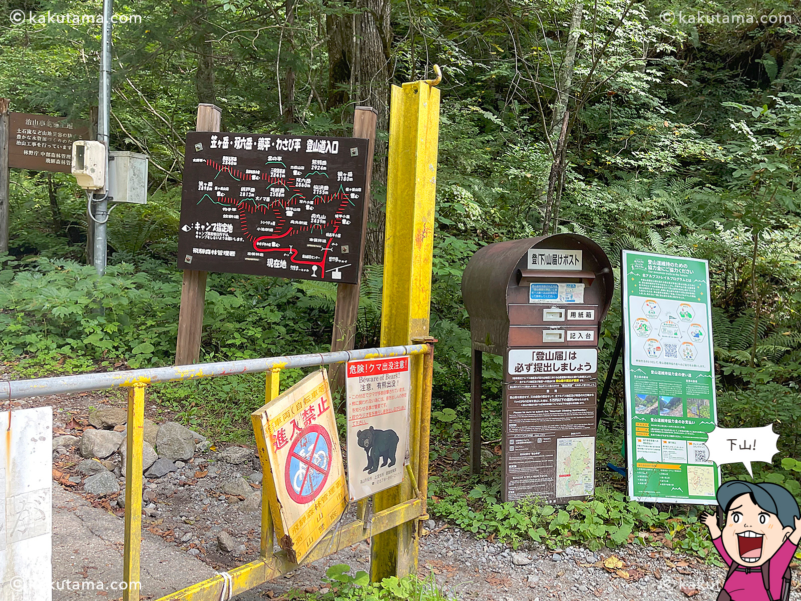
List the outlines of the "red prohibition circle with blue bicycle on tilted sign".
<svg viewBox="0 0 801 601">
<path fill-rule="evenodd" d="M 331 473 L 331 454 L 331 435 L 323 426 L 312 424 L 300 431 L 284 469 L 284 482 L 292 501 L 308 503 L 322 492 Z"/>
</svg>

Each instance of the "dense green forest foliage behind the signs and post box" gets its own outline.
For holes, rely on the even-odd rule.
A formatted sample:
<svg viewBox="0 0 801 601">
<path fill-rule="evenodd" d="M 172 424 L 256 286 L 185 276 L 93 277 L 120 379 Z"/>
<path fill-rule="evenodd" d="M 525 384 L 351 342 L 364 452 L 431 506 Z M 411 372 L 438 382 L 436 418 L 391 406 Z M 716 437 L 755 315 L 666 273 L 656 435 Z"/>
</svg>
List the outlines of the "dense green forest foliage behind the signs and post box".
<svg viewBox="0 0 801 601">
<path fill-rule="evenodd" d="M 17 4 L 4 6 L 99 11 L 99 2 Z M 363 97 L 363 82 L 329 71 L 327 29 L 332 18 L 361 14 L 360 2 L 120 6 L 144 18 L 115 28 L 112 146 L 151 155 L 149 204 L 112 216 L 111 266 L 98 279 L 82 266 L 86 207 L 70 176 L 12 171 L 0 353 L 21 376 L 171 361 L 183 134 L 194 127 L 199 100 L 223 108 L 227 131 L 342 134 Z M 651 543 L 708 549 L 694 510 L 642 507 L 614 488 L 604 466 L 622 461 L 619 414 L 610 416 L 614 431 L 599 434 L 602 486 L 593 501 L 564 509 L 501 505 L 494 456 L 481 478 L 467 477 L 469 321 L 461 272 L 482 245 L 543 231 L 590 236 L 613 264 L 622 248 L 710 261 L 719 422 L 774 422 L 780 453 L 759 477 L 801 494 L 801 32 L 793 22 L 666 23 L 658 18 L 663 10 L 759 17 L 784 14 L 787 6 L 586 3 L 578 13 L 560 175 L 552 171 L 560 151 L 552 121 L 558 126 L 574 4 L 392 2 L 387 83 L 428 76 L 434 62 L 445 72 L 431 324 L 440 340 L 432 490 L 441 500 L 431 508 L 477 533 L 616 545 L 645 542 L 641 531 L 661 529 Z M 97 26 L 0 30 L 0 96 L 12 99 L 12 110 L 86 119 L 96 98 L 98 49 Z M 335 96 L 340 102 L 331 102 Z M 374 188 L 380 207 L 381 182 Z M 360 346 L 378 340 L 380 289 L 380 264 L 371 265 Z M 212 274 L 203 359 L 325 350 L 335 294 L 327 284 Z M 104 313 L 92 310 L 99 305 Z M 600 337 L 602 369 L 620 325 L 617 294 L 612 306 Z M 486 357 L 484 369 L 485 438 L 492 440 L 499 436 L 500 359 Z M 245 438 L 261 386 L 258 378 L 241 378 L 162 385 L 153 393 L 187 422 L 214 417 L 205 421 L 217 424 L 218 434 Z M 616 399 L 618 376 L 607 408 Z"/>
</svg>

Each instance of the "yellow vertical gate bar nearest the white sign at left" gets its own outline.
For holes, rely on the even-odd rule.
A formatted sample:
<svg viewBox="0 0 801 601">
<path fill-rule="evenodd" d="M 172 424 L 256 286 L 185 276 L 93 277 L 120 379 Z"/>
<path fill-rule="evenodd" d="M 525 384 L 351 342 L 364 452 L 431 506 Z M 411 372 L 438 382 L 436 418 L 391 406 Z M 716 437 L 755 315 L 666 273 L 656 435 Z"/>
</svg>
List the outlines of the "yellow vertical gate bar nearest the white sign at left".
<svg viewBox="0 0 801 601">
<path fill-rule="evenodd" d="M 128 389 L 125 466 L 125 547 L 123 601 L 139 601 L 139 551 L 142 543 L 142 448 L 144 442 L 145 386 Z M 134 585 L 133 583 L 137 583 Z"/>
</svg>

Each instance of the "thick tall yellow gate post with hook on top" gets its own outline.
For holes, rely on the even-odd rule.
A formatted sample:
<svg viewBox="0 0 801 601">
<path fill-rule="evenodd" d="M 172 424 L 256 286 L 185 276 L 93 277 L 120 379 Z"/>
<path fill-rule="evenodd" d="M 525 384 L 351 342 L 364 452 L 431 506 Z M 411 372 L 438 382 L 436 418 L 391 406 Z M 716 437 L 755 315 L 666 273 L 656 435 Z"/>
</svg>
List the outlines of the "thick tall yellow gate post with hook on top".
<svg viewBox="0 0 801 601">
<path fill-rule="evenodd" d="M 440 119 L 439 67 L 437 79 L 392 86 L 389 117 L 387 218 L 384 238 L 384 298 L 381 345 L 408 345 L 429 335 L 434 205 L 437 184 L 437 141 Z M 409 417 L 409 457 L 414 478 L 419 473 L 423 358 L 412 357 Z M 427 438 L 427 437 L 426 437 Z M 427 440 L 426 440 L 427 442 Z M 426 464 L 428 462 L 425 462 Z M 427 467 L 427 466 L 426 466 Z M 423 481 L 427 481 L 425 474 Z M 378 512 L 415 496 L 410 478 L 373 497 Z M 405 522 L 372 537 L 370 577 L 417 572 L 417 520 Z"/>
</svg>

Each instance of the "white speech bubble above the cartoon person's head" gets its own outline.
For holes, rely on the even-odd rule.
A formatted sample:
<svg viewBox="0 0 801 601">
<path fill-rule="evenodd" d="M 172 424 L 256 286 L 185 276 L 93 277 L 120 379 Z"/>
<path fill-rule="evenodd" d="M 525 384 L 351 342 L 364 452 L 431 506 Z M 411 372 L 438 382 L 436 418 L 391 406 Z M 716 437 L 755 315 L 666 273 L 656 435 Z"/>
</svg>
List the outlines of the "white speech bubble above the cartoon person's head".
<svg viewBox="0 0 801 601">
<path fill-rule="evenodd" d="M 754 472 L 751 462 L 771 463 L 773 456 L 779 453 L 776 441 L 779 434 L 773 431 L 773 424 L 761 428 L 718 428 L 709 433 L 706 448 L 709 450 L 709 461 L 719 465 L 723 463 L 742 462 L 751 479 Z"/>
</svg>

